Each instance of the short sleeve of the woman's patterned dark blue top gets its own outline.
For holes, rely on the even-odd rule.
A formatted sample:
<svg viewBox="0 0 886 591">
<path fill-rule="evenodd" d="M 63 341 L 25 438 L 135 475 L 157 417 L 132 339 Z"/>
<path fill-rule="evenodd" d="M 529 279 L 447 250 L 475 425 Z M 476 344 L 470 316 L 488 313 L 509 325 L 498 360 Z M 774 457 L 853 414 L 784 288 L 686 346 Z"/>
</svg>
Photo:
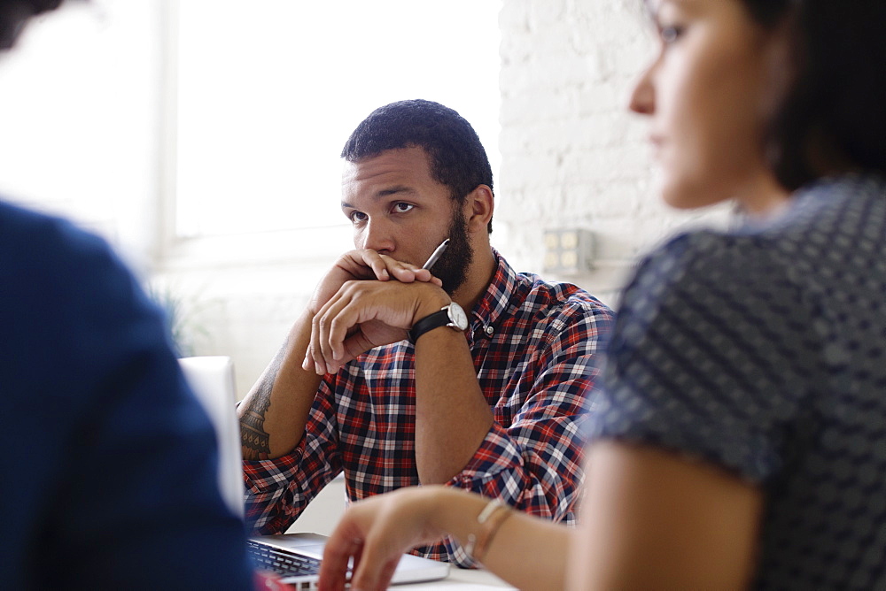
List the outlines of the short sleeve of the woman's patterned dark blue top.
<svg viewBox="0 0 886 591">
<path fill-rule="evenodd" d="M 688 234 L 641 265 L 592 439 L 668 449 L 757 483 L 788 461 L 820 355 L 814 306 L 763 240 Z"/>
</svg>

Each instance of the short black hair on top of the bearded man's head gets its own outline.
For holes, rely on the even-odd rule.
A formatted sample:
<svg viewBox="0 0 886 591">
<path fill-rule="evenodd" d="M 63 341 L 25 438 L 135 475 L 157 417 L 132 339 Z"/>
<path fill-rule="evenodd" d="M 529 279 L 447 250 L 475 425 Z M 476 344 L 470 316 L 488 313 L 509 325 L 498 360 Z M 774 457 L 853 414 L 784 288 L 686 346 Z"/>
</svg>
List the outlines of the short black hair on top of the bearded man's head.
<svg viewBox="0 0 886 591">
<path fill-rule="evenodd" d="M 456 203 L 479 185 L 493 188 L 492 167 L 477 132 L 456 111 L 432 101 L 398 101 L 372 111 L 347 139 L 341 157 L 358 162 L 403 148 L 425 151 L 431 178 L 449 188 Z M 488 229 L 493 231 L 491 220 Z"/>
</svg>

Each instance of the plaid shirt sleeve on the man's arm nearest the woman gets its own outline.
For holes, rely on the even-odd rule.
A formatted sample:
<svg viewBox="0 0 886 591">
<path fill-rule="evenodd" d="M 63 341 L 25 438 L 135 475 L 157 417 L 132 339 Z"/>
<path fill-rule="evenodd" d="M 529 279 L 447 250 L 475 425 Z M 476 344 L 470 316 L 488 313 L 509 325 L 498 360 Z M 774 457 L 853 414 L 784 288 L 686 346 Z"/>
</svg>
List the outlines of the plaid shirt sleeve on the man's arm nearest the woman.
<svg viewBox="0 0 886 591">
<path fill-rule="evenodd" d="M 489 433 L 450 486 L 574 525 L 584 478 L 582 425 L 612 321 L 602 304 L 583 302 L 566 303 L 540 323 L 543 345 L 525 365 L 527 391 L 502 397 Z M 436 551 L 455 564 L 474 565 L 452 539 Z"/>
</svg>

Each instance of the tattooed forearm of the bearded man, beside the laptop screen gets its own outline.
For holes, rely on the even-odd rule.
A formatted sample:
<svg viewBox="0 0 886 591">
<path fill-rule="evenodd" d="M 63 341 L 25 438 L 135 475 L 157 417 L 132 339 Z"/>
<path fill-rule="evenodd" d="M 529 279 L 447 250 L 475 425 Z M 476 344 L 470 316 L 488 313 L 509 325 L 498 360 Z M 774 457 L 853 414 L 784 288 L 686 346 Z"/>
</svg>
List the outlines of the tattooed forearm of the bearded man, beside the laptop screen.
<svg viewBox="0 0 886 591">
<path fill-rule="evenodd" d="M 270 459 L 289 453 L 305 433 L 321 376 L 302 369 L 311 324 L 307 312 L 238 409 L 243 457 Z"/>
</svg>

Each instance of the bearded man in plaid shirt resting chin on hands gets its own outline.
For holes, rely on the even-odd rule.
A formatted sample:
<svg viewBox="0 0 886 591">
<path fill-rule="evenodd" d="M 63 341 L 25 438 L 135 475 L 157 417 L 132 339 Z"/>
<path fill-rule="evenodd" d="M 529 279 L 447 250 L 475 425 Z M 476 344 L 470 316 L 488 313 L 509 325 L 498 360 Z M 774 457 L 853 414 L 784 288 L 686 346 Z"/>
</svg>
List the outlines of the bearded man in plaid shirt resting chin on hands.
<svg viewBox="0 0 886 591">
<path fill-rule="evenodd" d="M 572 523 L 610 310 L 490 246 L 492 170 L 455 111 L 381 107 L 342 157 L 356 250 L 240 405 L 247 520 L 284 533 L 344 471 L 351 500 L 446 483 Z M 451 540 L 420 553 L 471 565 Z"/>
</svg>

